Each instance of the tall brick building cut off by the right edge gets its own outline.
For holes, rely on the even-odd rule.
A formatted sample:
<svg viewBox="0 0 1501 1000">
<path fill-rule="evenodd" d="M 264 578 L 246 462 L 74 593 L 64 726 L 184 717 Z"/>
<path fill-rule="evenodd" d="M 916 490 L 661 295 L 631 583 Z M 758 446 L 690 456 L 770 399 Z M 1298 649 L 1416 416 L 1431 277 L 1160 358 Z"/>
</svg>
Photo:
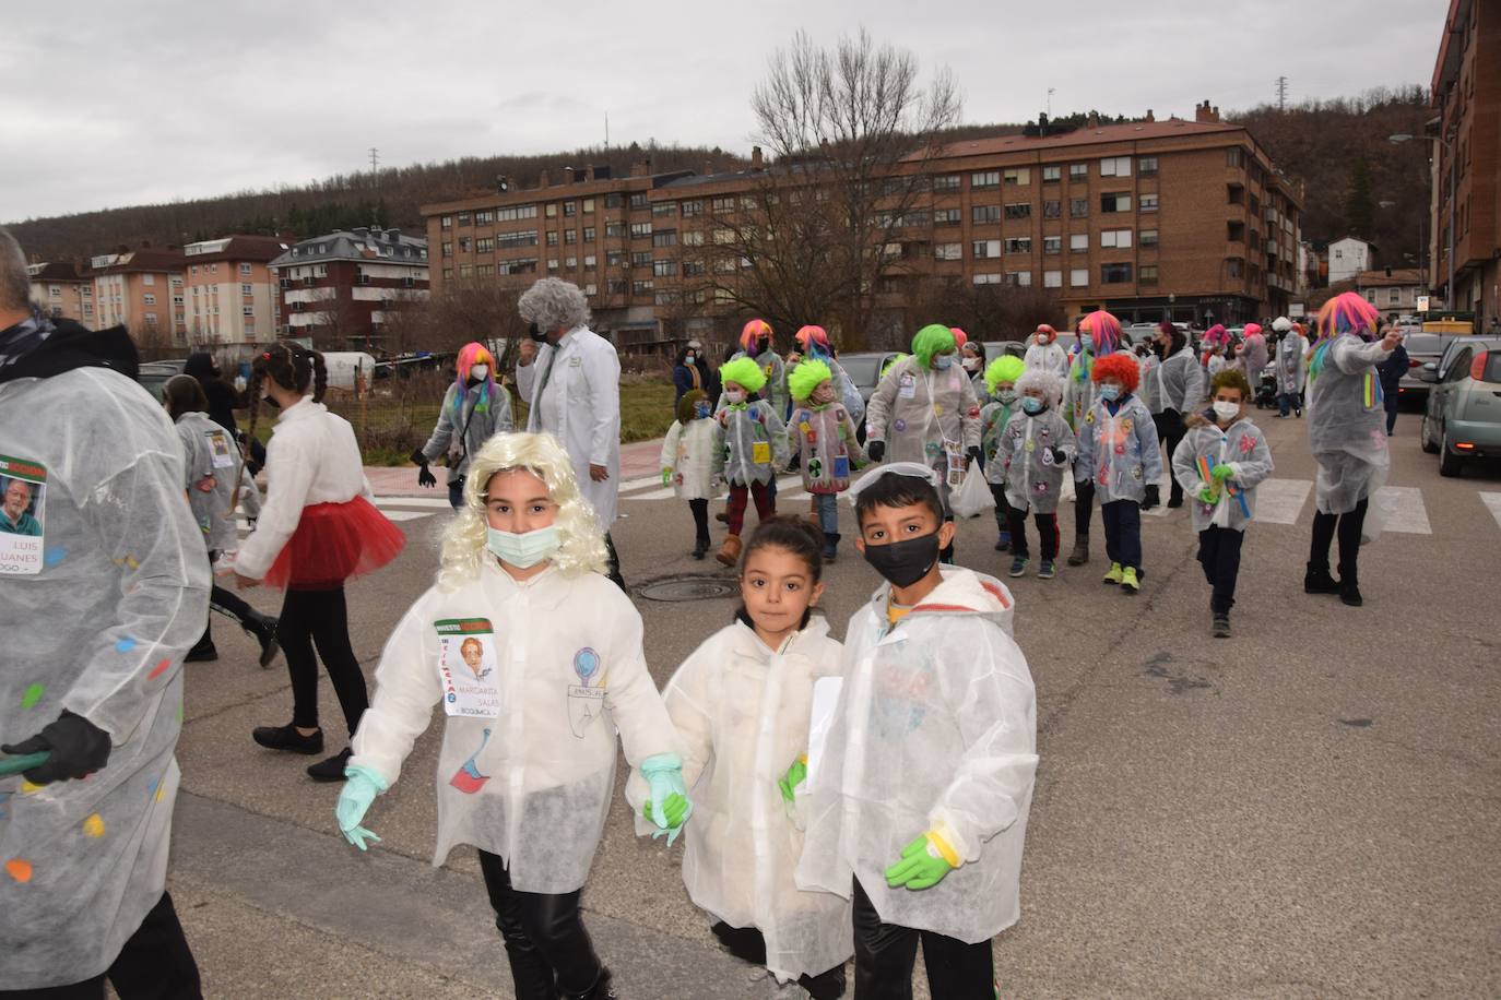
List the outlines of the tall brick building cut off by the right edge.
<svg viewBox="0 0 1501 1000">
<path fill-rule="evenodd" d="M 1433 142 L 1433 283 L 1448 283 L 1453 211 L 1451 301 L 1484 328 L 1501 316 L 1501 3 L 1450 0 L 1430 93 L 1444 139 Z"/>
</svg>

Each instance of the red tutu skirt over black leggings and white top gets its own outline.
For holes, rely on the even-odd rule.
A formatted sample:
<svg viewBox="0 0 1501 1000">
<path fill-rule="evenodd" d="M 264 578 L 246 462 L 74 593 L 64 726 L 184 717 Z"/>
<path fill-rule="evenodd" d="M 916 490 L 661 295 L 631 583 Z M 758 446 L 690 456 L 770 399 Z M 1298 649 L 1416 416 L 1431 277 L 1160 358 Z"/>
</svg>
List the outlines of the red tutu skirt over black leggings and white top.
<svg viewBox="0 0 1501 1000">
<path fill-rule="evenodd" d="M 297 531 L 266 571 L 276 589 L 333 591 L 395 559 L 407 535 L 363 496 L 302 508 Z"/>
</svg>

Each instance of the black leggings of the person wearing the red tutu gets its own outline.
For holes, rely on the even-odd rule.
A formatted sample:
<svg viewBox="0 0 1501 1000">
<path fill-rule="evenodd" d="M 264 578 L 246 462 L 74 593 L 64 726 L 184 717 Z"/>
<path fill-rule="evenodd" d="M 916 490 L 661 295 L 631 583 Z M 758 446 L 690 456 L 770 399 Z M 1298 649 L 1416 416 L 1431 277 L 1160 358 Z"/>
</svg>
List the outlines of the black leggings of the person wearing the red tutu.
<svg viewBox="0 0 1501 1000">
<path fill-rule="evenodd" d="M 333 681 L 333 693 L 339 696 L 339 708 L 344 709 L 344 721 L 353 736 L 369 708 L 369 693 L 365 690 L 360 661 L 350 645 L 350 610 L 344 601 L 344 588 L 287 588 L 276 640 L 287 657 L 287 673 L 291 675 L 293 726 L 318 726 L 318 657 L 323 657 L 323 669 Z"/>
</svg>

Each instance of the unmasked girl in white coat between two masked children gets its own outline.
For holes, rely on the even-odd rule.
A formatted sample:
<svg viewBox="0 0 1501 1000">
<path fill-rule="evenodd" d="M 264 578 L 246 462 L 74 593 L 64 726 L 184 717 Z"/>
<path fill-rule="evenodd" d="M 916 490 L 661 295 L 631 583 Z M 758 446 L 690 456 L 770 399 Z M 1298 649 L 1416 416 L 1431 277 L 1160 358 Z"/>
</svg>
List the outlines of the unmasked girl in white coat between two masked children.
<svg viewBox="0 0 1501 1000">
<path fill-rule="evenodd" d="M 761 522 L 740 561 L 735 622 L 695 649 L 662 694 L 693 801 L 683 828 L 689 898 L 731 954 L 820 1000 L 844 994 L 854 954 L 850 903 L 793 882 L 815 690 L 827 694 L 839 676 L 841 646 L 812 613 L 823 546 L 803 520 Z M 632 786 L 635 801 L 644 784 Z"/>
</svg>

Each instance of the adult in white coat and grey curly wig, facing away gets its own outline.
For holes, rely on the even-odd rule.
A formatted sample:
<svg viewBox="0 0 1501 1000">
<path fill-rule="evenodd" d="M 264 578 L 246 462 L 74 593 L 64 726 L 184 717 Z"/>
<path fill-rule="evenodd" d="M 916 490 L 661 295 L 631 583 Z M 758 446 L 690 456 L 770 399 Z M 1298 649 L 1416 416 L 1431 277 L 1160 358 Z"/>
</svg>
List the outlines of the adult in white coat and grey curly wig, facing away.
<svg viewBox="0 0 1501 1000">
<path fill-rule="evenodd" d="M 521 345 L 516 388 L 528 400 L 527 430 L 557 438 L 573 460 L 579 492 L 594 508 L 609 552 L 609 579 L 621 589 L 620 555 L 609 537 L 620 502 L 620 357 L 588 328 L 578 285 L 543 277 L 521 295 L 521 318 L 545 339 Z"/>
</svg>

